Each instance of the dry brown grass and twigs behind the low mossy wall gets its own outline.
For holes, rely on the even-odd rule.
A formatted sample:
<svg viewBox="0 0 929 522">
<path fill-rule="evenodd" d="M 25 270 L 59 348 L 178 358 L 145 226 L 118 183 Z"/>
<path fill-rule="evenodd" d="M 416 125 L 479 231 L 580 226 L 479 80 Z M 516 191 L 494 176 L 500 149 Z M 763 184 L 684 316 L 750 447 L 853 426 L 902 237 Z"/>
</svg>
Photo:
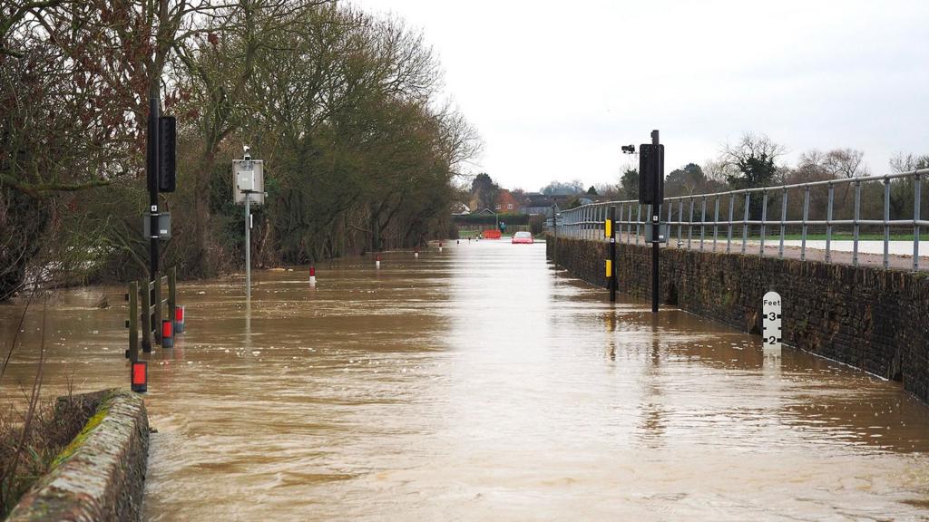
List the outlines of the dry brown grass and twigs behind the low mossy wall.
<svg viewBox="0 0 929 522">
<path fill-rule="evenodd" d="M 97 406 L 98 398 L 83 396 L 57 402 L 42 399 L 25 433 L 27 411 L 11 405 L 0 410 L 0 519 L 49 471 L 55 457 L 80 433 Z"/>
</svg>

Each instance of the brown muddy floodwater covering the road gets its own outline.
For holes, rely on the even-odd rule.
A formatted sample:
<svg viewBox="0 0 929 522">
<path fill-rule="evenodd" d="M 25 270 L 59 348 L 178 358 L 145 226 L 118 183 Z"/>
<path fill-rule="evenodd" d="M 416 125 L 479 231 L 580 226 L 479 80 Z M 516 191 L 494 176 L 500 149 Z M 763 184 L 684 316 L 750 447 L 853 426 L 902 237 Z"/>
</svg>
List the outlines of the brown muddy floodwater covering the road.
<svg viewBox="0 0 929 522">
<path fill-rule="evenodd" d="M 929 519 L 929 408 L 896 383 L 610 305 L 542 244 L 318 277 L 256 272 L 250 308 L 241 277 L 180 287 L 187 332 L 150 357 L 147 520 Z M 128 384 L 122 292 L 56 297 L 49 393 Z M 7 344 L 20 310 L 0 307 Z"/>
</svg>

